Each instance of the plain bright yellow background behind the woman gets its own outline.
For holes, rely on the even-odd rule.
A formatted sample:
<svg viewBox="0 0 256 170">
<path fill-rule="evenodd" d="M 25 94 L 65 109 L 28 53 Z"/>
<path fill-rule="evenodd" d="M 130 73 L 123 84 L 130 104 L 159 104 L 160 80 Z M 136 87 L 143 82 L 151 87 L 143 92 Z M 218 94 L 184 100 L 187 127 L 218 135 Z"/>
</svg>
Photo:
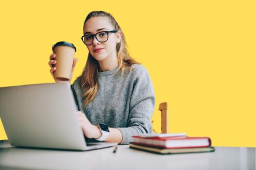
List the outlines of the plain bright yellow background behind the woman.
<svg viewBox="0 0 256 170">
<path fill-rule="evenodd" d="M 215 146 L 256 147 L 255 1 L 3 1 L 0 87 L 52 83 L 51 45 L 69 41 L 87 60 L 83 21 L 93 10 L 114 15 L 133 58 L 169 104 L 169 132 L 209 136 Z M 14 106 L 15 107 L 15 106 Z M 0 139 L 6 139 L 0 122 Z"/>
</svg>

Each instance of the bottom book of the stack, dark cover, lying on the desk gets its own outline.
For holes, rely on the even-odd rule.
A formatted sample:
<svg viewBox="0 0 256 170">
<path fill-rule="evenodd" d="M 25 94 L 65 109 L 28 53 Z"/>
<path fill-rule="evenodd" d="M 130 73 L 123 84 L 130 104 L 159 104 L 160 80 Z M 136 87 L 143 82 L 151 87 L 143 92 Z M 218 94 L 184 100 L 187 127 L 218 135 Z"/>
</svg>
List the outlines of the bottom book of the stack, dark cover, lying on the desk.
<svg viewBox="0 0 256 170">
<path fill-rule="evenodd" d="M 204 153 L 204 152 L 214 152 L 214 147 L 204 147 L 204 148 L 176 148 L 176 149 L 163 149 L 155 147 L 146 147 L 144 145 L 139 145 L 133 142 L 129 143 L 131 149 L 147 151 L 157 154 L 184 154 L 184 153 Z"/>
</svg>

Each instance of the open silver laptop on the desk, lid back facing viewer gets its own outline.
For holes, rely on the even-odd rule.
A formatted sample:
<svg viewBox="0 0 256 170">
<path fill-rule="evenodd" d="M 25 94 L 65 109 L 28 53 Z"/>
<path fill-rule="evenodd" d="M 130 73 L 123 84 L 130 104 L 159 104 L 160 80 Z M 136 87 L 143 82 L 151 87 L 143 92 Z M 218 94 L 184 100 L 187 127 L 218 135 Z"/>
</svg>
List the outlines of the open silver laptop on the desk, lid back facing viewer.
<svg viewBox="0 0 256 170">
<path fill-rule="evenodd" d="M 87 143 L 69 83 L 0 87 L 0 117 L 11 145 L 94 150 L 118 143 Z"/>
</svg>

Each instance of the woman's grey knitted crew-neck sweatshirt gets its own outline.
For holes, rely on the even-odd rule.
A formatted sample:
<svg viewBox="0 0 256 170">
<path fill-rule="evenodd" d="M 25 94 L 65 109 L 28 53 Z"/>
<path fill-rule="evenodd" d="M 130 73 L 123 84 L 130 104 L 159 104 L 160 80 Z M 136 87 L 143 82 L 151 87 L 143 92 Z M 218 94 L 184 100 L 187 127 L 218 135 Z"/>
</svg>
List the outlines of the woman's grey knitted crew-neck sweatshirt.
<svg viewBox="0 0 256 170">
<path fill-rule="evenodd" d="M 146 68 L 132 65 L 132 71 L 115 74 L 115 69 L 98 72 L 98 90 L 86 108 L 79 79 L 72 85 L 78 110 L 86 114 L 91 124 L 99 123 L 117 128 L 122 133 L 122 142 L 128 144 L 132 136 L 151 133 L 151 118 L 155 109 L 155 92 Z"/>
</svg>

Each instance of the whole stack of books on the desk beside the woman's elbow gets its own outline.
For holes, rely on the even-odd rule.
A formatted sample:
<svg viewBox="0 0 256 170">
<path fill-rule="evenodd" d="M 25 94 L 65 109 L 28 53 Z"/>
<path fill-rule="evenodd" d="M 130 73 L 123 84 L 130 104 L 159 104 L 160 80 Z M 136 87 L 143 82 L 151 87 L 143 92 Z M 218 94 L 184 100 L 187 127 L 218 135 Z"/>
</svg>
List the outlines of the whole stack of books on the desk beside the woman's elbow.
<svg viewBox="0 0 256 170">
<path fill-rule="evenodd" d="M 188 137 L 185 133 L 133 136 L 130 148 L 159 154 L 214 152 L 209 137 Z"/>
</svg>

